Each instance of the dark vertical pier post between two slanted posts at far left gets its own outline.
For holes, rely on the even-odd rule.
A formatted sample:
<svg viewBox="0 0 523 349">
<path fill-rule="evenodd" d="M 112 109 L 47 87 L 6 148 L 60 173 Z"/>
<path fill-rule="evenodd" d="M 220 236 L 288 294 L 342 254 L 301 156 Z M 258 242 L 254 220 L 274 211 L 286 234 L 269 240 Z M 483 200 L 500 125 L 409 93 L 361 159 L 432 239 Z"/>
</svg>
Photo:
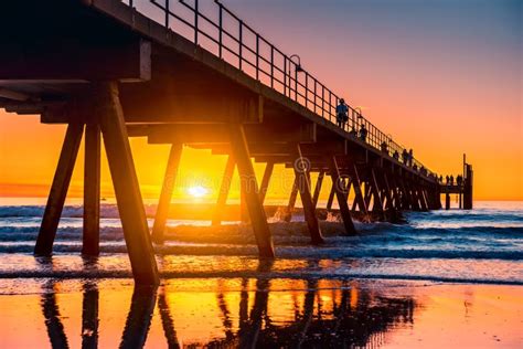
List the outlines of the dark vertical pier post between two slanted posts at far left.
<svg viewBox="0 0 523 349">
<path fill-rule="evenodd" d="M 100 127 L 89 123 L 85 127 L 84 166 L 84 233 L 82 254 L 99 255 L 100 220 Z"/>
</svg>

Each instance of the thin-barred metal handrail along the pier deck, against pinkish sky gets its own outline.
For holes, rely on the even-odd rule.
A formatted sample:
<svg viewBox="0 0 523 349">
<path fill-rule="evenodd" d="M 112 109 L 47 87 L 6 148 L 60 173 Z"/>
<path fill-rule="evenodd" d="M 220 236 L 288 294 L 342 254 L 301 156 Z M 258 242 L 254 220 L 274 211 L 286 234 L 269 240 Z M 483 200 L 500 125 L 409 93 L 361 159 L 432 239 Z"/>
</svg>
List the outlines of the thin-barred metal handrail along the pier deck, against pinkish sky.
<svg viewBox="0 0 523 349">
<path fill-rule="evenodd" d="M 209 40 L 214 45 L 216 45 L 217 52 L 215 54 L 220 59 L 234 65 L 238 70 L 250 75 L 263 84 L 280 92 L 288 98 L 297 102 L 318 116 L 321 116 L 322 118 L 335 124 L 335 107 L 338 101 L 340 99 L 339 95 L 325 87 L 325 85 L 318 81 L 312 74 L 305 71 L 301 65 L 298 65 L 296 62 L 293 62 L 291 56 L 285 54 L 252 27 L 246 24 L 234 12 L 228 10 L 220 0 L 214 0 L 214 4 L 218 11 L 217 23 L 200 10 L 199 0 L 192 0 L 192 4 L 190 4 L 186 0 L 178 0 L 178 3 L 192 12 L 192 20 L 188 20 L 172 10 L 170 4 L 175 2 L 173 0 L 149 1 L 154 7 L 163 11 L 164 22 L 161 24 L 163 24 L 166 28 L 171 29 L 171 20 L 179 21 L 181 24 L 193 31 L 193 38 L 186 38 L 186 35 L 184 36 L 189 40 L 192 40 L 194 44 L 199 45 L 199 41 L 201 39 Z M 134 7 L 135 4 L 134 0 L 127 0 L 124 2 L 127 2 L 130 7 Z M 227 19 L 232 19 L 234 21 L 234 27 L 237 28 L 237 33 L 231 33 L 231 31 L 226 30 L 224 22 Z M 217 34 L 213 34 L 209 29 L 205 29 L 205 25 L 202 24 L 207 24 L 211 29 L 217 31 Z M 254 45 L 248 44 L 248 42 L 244 40 L 244 38 L 246 38 L 248 34 L 255 38 Z M 225 42 L 226 40 L 232 41 L 232 44 L 227 44 Z M 234 45 L 235 47 L 232 47 L 231 45 Z M 268 55 L 264 54 L 264 51 L 268 52 Z M 227 59 L 225 56 L 226 54 L 231 54 L 232 59 Z M 267 67 L 264 67 L 264 65 Z M 300 70 L 299 73 L 297 72 L 298 68 Z M 253 70 L 254 72 L 248 72 L 248 70 Z M 292 72 L 295 73 L 293 76 L 291 74 Z M 303 76 L 302 78 L 300 78 L 300 74 Z M 398 162 L 409 166 L 413 169 L 417 169 L 418 171 L 423 172 L 421 174 L 437 178 L 435 172 L 428 170 L 428 168 L 416 158 L 404 161 L 402 152 L 407 148 L 397 144 L 392 139 L 392 137 L 385 135 L 382 130 L 374 126 L 374 124 L 372 124 L 362 115 L 361 110 L 356 110 L 357 108 L 354 108 L 349 104 L 348 107 L 349 120 L 346 123 L 346 128 L 344 129 L 345 131 L 350 131 L 353 128 L 359 131 L 361 126 L 365 125 L 365 128 L 367 129 L 367 136 L 364 141 L 366 144 L 381 151 L 384 151 L 384 149 L 382 149 L 382 145 L 385 144 L 387 148 L 386 151 L 389 157 L 393 157 L 393 155 L 397 151 Z"/>
</svg>

